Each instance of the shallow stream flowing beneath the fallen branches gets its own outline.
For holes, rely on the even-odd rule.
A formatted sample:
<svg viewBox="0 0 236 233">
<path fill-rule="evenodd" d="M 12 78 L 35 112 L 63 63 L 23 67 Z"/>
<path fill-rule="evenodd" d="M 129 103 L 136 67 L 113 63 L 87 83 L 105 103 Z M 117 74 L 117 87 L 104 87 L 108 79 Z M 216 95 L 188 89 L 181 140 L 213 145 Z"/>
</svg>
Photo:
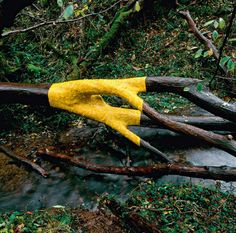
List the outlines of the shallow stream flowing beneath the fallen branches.
<svg viewBox="0 0 236 233">
<path fill-rule="evenodd" d="M 149 135 L 150 136 L 150 135 Z M 236 166 L 236 158 L 230 154 L 206 147 L 186 138 L 168 136 L 155 140 L 157 147 L 165 149 L 172 159 L 190 162 L 194 165 Z M 155 143 L 152 142 L 152 143 Z M 171 143 L 170 143 L 171 142 Z M 168 149 L 167 149 L 168 148 Z M 163 150 L 162 149 L 162 150 Z M 132 165 L 145 165 L 151 162 L 152 156 L 136 147 L 129 146 Z M 104 149 L 84 148 L 80 154 L 104 164 L 121 165 L 120 158 Z M 97 200 L 101 194 L 115 194 L 120 200 L 134 189 L 145 178 L 128 177 L 110 174 L 95 174 L 67 165 L 58 166 L 42 161 L 42 166 L 50 171 L 50 177 L 45 179 L 24 167 L 13 164 L 3 153 L 0 153 L 0 211 L 33 210 L 39 208 L 63 205 L 96 209 Z M 198 178 L 166 175 L 159 182 L 201 183 L 205 186 L 215 186 L 223 191 L 236 193 L 236 182 L 220 182 Z"/>
</svg>

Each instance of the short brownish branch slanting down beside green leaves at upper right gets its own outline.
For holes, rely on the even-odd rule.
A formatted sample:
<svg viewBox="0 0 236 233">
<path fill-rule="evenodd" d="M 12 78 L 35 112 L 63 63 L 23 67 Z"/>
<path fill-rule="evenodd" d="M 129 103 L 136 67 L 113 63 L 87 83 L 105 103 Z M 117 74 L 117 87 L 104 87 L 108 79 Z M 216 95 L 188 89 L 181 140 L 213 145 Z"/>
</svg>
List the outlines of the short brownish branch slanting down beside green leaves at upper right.
<svg viewBox="0 0 236 233">
<path fill-rule="evenodd" d="M 213 56 L 216 60 L 219 60 L 219 52 L 215 45 L 212 43 L 211 40 L 207 39 L 197 28 L 195 22 L 193 21 L 189 11 L 179 11 L 179 14 L 187 21 L 191 32 L 196 36 L 196 38 L 205 45 L 207 49 L 211 49 L 213 52 Z M 224 71 L 225 74 L 228 73 L 227 67 L 225 65 L 220 64 L 220 68 Z"/>
</svg>

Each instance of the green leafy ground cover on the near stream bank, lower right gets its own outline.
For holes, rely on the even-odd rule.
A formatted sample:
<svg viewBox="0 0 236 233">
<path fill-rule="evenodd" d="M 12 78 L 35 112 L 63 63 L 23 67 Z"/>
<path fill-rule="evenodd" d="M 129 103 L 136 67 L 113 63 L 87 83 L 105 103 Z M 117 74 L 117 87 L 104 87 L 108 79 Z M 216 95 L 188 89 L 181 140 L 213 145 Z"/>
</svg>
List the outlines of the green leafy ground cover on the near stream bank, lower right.
<svg viewBox="0 0 236 233">
<path fill-rule="evenodd" d="M 160 232 L 235 232 L 235 204 L 235 196 L 217 189 L 149 180 L 130 193 L 122 215 L 137 214 Z"/>
</svg>

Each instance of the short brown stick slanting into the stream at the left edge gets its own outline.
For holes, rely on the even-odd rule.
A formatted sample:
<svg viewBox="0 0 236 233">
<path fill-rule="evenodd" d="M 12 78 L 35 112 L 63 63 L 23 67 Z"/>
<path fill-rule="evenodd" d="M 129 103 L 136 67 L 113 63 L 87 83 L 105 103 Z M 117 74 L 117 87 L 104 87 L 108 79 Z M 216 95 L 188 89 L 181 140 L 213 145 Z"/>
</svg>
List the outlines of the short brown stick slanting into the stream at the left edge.
<svg viewBox="0 0 236 233">
<path fill-rule="evenodd" d="M 45 178 L 48 177 L 48 173 L 42 167 L 40 167 L 38 164 L 30 161 L 28 158 L 22 157 L 22 156 L 19 156 L 19 155 L 13 153 L 11 150 L 7 149 L 5 146 L 0 146 L 0 151 L 2 151 L 4 154 L 11 157 L 12 159 L 15 159 L 17 162 L 20 162 L 24 166 L 30 167 L 31 169 L 35 170 L 41 176 L 43 176 Z"/>
</svg>

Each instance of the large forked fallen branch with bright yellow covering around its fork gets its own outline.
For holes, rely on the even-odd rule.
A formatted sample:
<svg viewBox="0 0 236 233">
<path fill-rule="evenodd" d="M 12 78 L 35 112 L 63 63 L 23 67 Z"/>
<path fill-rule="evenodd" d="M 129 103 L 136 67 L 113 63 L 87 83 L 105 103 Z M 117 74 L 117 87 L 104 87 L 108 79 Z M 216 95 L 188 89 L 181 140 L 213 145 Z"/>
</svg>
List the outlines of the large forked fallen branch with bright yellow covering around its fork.
<svg viewBox="0 0 236 233">
<path fill-rule="evenodd" d="M 84 114 L 83 111 L 80 112 L 81 109 L 80 109 L 80 107 L 78 107 L 80 104 L 80 100 L 78 99 L 78 96 L 77 96 L 78 89 L 80 88 L 81 85 L 82 85 L 81 87 L 83 87 L 83 85 L 86 84 L 86 85 L 89 85 L 89 90 L 90 90 L 89 95 L 93 95 L 96 97 L 97 95 L 103 94 L 105 91 L 105 93 L 107 93 L 107 94 L 113 94 L 113 95 L 115 94 L 115 95 L 120 96 L 121 98 L 127 99 L 126 91 L 128 91 L 129 88 L 131 88 L 131 86 L 129 87 L 127 82 L 133 82 L 133 83 L 138 82 L 138 84 L 136 83 L 137 85 L 140 85 L 140 82 L 141 82 L 142 83 L 141 86 L 143 86 L 143 85 L 146 86 L 145 91 L 147 91 L 147 92 L 151 92 L 151 91 L 175 92 L 175 93 L 178 93 L 178 94 L 188 98 L 190 101 L 198 104 L 199 106 L 202 106 L 205 109 L 215 113 L 216 115 L 218 114 L 220 116 L 223 116 L 224 118 L 232 120 L 233 122 L 235 122 L 234 119 L 236 119 L 236 106 L 222 101 L 221 99 L 214 96 L 212 93 L 207 92 L 205 90 L 198 91 L 197 85 L 199 84 L 200 80 L 197 80 L 197 79 L 170 78 L 170 77 L 159 77 L 159 78 L 147 77 L 147 78 L 123 79 L 123 80 L 113 80 L 113 81 L 100 80 L 100 81 L 102 81 L 103 84 L 100 85 L 100 87 L 98 87 L 96 85 L 96 88 L 94 88 L 94 84 L 97 83 L 97 81 L 98 80 L 74 81 L 77 83 L 76 86 L 74 86 L 74 84 L 71 85 L 70 82 L 55 85 L 54 92 L 53 91 L 51 92 L 51 93 L 56 94 L 56 95 L 52 96 L 52 98 L 55 98 L 54 102 L 56 103 L 56 105 L 55 106 L 53 105 L 53 107 L 69 110 L 71 112 L 74 112 L 74 113 L 77 113 L 80 115 L 82 114 L 88 118 L 97 120 L 99 122 L 104 122 L 104 119 L 106 119 L 105 120 L 106 124 L 112 128 L 114 128 L 114 125 L 112 125 L 113 122 L 109 121 L 110 123 L 108 123 L 107 119 L 108 118 L 113 119 L 111 117 L 114 114 L 116 114 L 116 117 L 119 118 L 118 125 L 120 127 L 120 125 L 121 125 L 120 113 L 122 112 L 123 117 L 124 117 L 124 116 L 126 116 L 126 114 L 128 114 L 128 112 L 130 112 L 130 111 L 133 112 L 132 110 L 124 109 L 124 108 L 111 108 L 111 107 L 109 107 L 109 105 L 104 105 L 103 102 L 99 102 L 99 104 L 100 104 L 99 114 L 102 115 L 101 118 L 98 113 L 96 113 L 96 115 L 94 116 L 93 112 L 91 112 L 91 111 L 87 112 L 86 113 L 87 115 L 86 115 L 86 114 Z M 119 89 L 119 87 L 117 86 L 118 84 L 120 85 L 121 82 L 124 85 L 127 85 L 124 89 L 122 89 L 123 88 L 122 86 L 120 86 L 121 89 Z M 104 86 L 105 83 L 106 83 L 106 85 L 109 84 L 109 90 L 107 90 L 107 86 Z M 101 84 L 101 82 L 100 82 L 100 84 Z M 106 87 L 106 88 L 102 91 L 101 87 L 102 88 Z M 186 87 L 188 87 L 188 90 L 186 90 Z M 19 103 L 20 102 L 20 103 L 35 104 L 35 101 L 33 101 L 33 98 L 36 98 L 36 100 L 38 101 L 37 103 L 49 105 L 49 103 L 48 103 L 48 89 L 49 88 L 50 88 L 50 85 L 25 85 L 25 84 L 12 84 L 12 83 L 10 83 L 10 84 L 9 83 L 2 83 L 1 84 L 0 83 L 0 103 L 1 103 L 1 101 L 3 101 L 2 103 L 9 103 L 9 101 L 10 101 L 12 103 L 14 103 L 14 102 Z M 57 88 L 59 88 L 59 89 L 57 89 Z M 87 86 L 87 88 L 88 88 L 88 86 Z M 55 91 L 55 90 L 57 90 L 57 91 Z M 141 90 L 141 92 L 142 92 L 142 90 Z M 88 91 L 88 89 L 83 90 L 83 91 L 86 92 L 86 91 Z M 57 95 L 57 93 L 61 94 L 61 95 L 59 95 L 60 96 L 59 99 L 58 99 L 59 96 Z M 199 139 L 209 143 L 210 145 L 213 145 L 215 147 L 223 149 L 223 150 L 231 153 L 232 155 L 236 156 L 236 141 L 233 140 L 232 135 L 226 135 L 226 136 L 219 135 L 219 134 L 215 134 L 213 132 L 208 132 L 206 130 L 197 128 L 195 126 L 172 121 L 168 117 L 165 117 L 165 116 L 161 115 L 160 113 L 158 113 L 157 111 L 155 111 L 154 109 L 150 108 L 146 103 L 143 103 L 143 101 L 141 99 L 139 99 L 139 97 L 136 94 L 130 95 L 130 92 L 129 92 L 128 97 L 129 98 L 127 100 L 130 103 L 132 103 L 132 101 L 135 101 L 135 100 L 141 101 L 142 111 L 147 116 L 149 116 L 151 119 L 157 121 L 161 125 L 164 125 L 168 129 L 173 130 L 178 133 L 183 133 L 185 135 L 189 135 L 189 136 L 192 136 L 195 138 L 199 138 Z M 62 101 L 63 106 L 57 106 L 57 103 L 61 103 L 61 100 L 63 98 L 66 98 L 66 100 L 67 100 L 65 102 L 65 106 L 64 106 L 64 101 Z M 75 99 L 77 99 L 77 102 L 75 102 L 76 105 L 71 105 L 72 102 L 74 103 Z M 98 99 L 95 98 L 94 100 L 97 101 Z M 100 100 L 101 99 L 99 98 L 99 101 Z M 89 99 L 89 101 L 90 101 L 90 99 Z M 67 104 L 69 104 L 69 106 L 70 106 L 69 108 L 67 107 Z M 88 102 L 86 109 L 88 109 L 88 107 L 91 108 L 93 106 L 93 104 L 94 103 L 92 103 L 92 105 L 91 105 L 91 103 Z M 98 106 L 99 104 L 97 103 L 96 106 Z M 75 108 L 73 108 L 72 106 L 74 106 Z M 103 115 L 102 109 L 109 111 L 110 115 L 108 114 L 105 117 Z M 92 115 L 90 115 L 90 114 L 92 114 Z M 135 117 L 137 117 L 137 114 L 139 114 L 139 113 L 136 112 Z M 131 122 L 133 122 L 133 123 L 129 123 L 128 125 L 132 125 L 132 124 L 139 125 L 139 123 L 136 123 L 137 122 L 136 120 L 133 121 L 134 119 L 137 119 L 137 118 L 132 118 Z M 123 119 L 124 128 L 122 128 L 122 130 L 124 129 L 124 131 L 120 132 L 119 131 L 120 128 L 114 128 L 115 130 L 120 132 L 125 137 L 127 137 L 126 133 L 128 130 L 127 124 L 125 122 L 126 120 L 127 120 L 127 118 Z M 129 135 L 130 135 L 130 133 L 132 133 L 132 132 L 128 132 Z M 130 140 L 129 137 L 127 137 L 127 138 Z M 160 159 L 162 159 L 163 161 L 169 161 L 167 156 L 165 156 L 165 154 L 163 154 L 162 152 L 160 152 L 156 148 L 152 147 L 149 143 L 145 142 L 144 140 L 140 140 L 139 137 L 134 136 L 134 138 L 132 138 L 132 139 L 134 140 L 133 142 L 136 145 L 143 146 L 144 148 L 148 149 L 149 151 L 154 152 L 156 155 L 159 155 Z"/>
</svg>

